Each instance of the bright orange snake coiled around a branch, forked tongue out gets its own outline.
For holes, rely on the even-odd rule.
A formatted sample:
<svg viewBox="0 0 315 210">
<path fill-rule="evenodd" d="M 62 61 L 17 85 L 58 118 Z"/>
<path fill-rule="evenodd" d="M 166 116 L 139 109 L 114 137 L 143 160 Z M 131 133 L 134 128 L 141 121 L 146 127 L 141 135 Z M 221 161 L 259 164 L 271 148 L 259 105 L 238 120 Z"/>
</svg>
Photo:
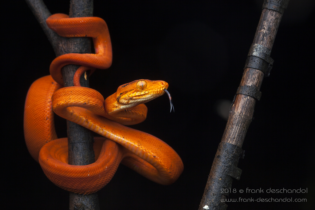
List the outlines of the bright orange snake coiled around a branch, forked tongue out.
<svg viewBox="0 0 315 210">
<path fill-rule="evenodd" d="M 147 108 L 143 103 L 163 95 L 168 83 L 136 80 L 119 86 L 106 100 L 91 88 L 62 88 L 61 68 L 65 65 L 92 69 L 111 65 L 110 36 L 105 21 L 97 17 L 68 18 L 65 14 L 54 14 L 46 22 L 60 36 L 93 37 L 96 53 L 57 57 L 50 65 L 51 76 L 33 82 L 27 93 L 25 141 L 46 176 L 64 190 L 90 194 L 103 188 L 122 162 L 159 184 L 175 182 L 184 168 L 178 154 L 162 140 L 124 126 L 144 121 Z M 67 138 L 57 139 L 53 111 L 107 138 L 95 137 L 95 163 L 68 165 Z"/>
</svg>

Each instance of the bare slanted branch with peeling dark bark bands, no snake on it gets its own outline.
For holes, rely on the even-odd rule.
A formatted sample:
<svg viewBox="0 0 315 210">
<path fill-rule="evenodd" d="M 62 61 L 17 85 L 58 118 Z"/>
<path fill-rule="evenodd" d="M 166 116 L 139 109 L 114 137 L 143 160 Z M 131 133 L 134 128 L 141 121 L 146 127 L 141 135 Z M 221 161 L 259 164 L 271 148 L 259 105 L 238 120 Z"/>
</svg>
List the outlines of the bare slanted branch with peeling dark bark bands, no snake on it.
<svg viewBox="0 0 315 210">
<path fill-rule="evenodd" d="M 227 205 L 222 199 L 229 196 L 228 191 L 232 187 L 232 178 L 240 179 L 242 170 L 237 168 L 237 165 L 239 158 L 243 156 L 243 141 L 253 118 L 256 100 L 260 99 L 259 90 L 262 80 L 264 76 L 269 75 L 270 66 L 273 63 L 268 56 L 288 3 L 289 0 L 265 0 L 263 3 L 253 45 L 249 50 L 240 87 L 231 106 L 226 128 L 215 154 L 199 210 L 225 210 Z M 254 54 L 252 54 L 253 51 Z M 255 54 L 257 52 L 260 55 Z M 259 65 L 257 65 L 258 61 Z M 256 68 L 256 66 L 258 67 Z"/>
</svg>

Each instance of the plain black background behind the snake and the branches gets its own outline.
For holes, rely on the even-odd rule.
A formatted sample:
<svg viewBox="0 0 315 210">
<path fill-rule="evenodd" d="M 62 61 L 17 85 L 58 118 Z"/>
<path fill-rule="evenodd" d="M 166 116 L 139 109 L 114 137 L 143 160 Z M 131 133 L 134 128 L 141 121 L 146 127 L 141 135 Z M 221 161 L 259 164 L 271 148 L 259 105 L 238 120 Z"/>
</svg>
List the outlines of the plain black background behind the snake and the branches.
<svg viewBox="0 0 315 210">
<path fill-rule="evenodd" d="M 7 2 L 8 3 L 8 2 Z M 67 1 L 45 1 L 54 13 L 68 13 Z M 26 3 L 3 13 L 2 182 L 8 208 L 68 209 L 68 192 L 56 187 L 29 155 L 23 137 L 27 90 L 49 74 L 54 52 Z M 109 27 L 113 65 L 90 77 L 104 97 L 136 79 L 164 80 L 173 96 L 147 103 L 147 120 L 133 126 L 172 146 L 184 172 L 172 185 L 155 184 L 121 165 L 98 192 L 101 209 L 197 209 L 226 120 L 217 114 L 232 100 L 242 77 L 261 15 L 262 1 L 151 1 L 94 3 L 94 16 Z M 306 198 L 306 202 L 228 202 L 228 209 L 311 209 L 314 207 L 314 2 L 291 0 L 284 12 L 262 98 L 247 132 L 241 179 L 230 198 Z M 11 101 L 10 105 L 6 101 Z M 231 103 L 231 102 L 230 102 Z M 66 136 L 65 122 L 57 133 Z M 267 189 L 308 193 L 266 193 Z M 15 207 L 17 205 L 17 207 Z M 2 205 L 3 206 L 3 205 Z M 4 208 L 7 209 L 7 208 Z"/>
</svg>

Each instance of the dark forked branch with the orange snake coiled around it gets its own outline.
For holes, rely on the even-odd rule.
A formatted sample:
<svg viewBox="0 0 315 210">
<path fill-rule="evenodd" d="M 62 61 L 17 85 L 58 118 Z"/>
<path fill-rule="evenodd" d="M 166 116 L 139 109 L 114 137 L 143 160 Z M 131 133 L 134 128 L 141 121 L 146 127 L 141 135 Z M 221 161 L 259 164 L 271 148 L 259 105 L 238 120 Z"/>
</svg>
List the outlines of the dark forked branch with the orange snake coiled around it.
<svg viewBox="0 0 315 210">
<path fill-rule="evenodd" d="M 46 25 L 46 19 L 51 15 L 42 0 L 26 0 L 49 42 L 51 43 L 56 56 L 67 53 L 91 53 L 91 39 L 85 37 L 65 38 L 60 37 Z M 93 16 L 93 0 L 71 0 L 69 17 Z M 67 65 L 62 68 L 64 86 L 73 86 L 73 75 L 79 66 Z M 81 85 L 89 87 L 89 80 L 83 77 Z M 93 150 L 93 135 L 88 129 L 67 121 L 68 153 L 69 164 L 88 165 L 95 162 Z M 96 193 L 79 195 L 70 192 L 69 209 L 98 210 L 99 202 Z"/>
</svg>

